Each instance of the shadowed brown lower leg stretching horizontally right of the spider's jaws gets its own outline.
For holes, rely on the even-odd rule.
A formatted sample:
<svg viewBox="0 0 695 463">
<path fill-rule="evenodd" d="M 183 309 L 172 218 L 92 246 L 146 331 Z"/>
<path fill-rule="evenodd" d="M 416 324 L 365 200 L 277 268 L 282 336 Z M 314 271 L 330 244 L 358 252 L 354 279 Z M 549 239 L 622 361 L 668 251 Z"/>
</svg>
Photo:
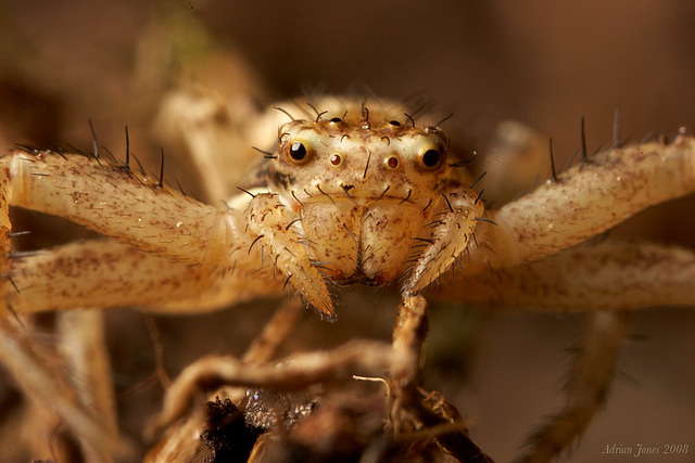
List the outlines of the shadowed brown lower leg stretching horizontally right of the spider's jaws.
<svg viewBox="0 0 695 463">
<path fill-rule="evenodd" d="M 465 271 L 465 269 L 464 269 Z M 604 242 L 475 275 L 441 279 L 434 298 L 496 308 L 622 310 L 695 306 L 695 253 L 653 243 Z"/>
</svg>

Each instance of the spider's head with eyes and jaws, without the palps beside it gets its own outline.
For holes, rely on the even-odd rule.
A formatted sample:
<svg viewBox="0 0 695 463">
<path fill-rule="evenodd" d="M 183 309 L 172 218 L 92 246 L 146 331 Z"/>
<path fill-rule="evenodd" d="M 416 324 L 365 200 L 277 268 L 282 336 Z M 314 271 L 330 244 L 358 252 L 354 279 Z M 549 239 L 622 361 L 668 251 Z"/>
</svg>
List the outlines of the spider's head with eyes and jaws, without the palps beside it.
<svg viewBox="0 0 695 463">
<path fill-rule="evenodd" d="M 425 224 L 459 184 L 445 134 L 389 117 L 397 108 L 381 103 L 371 114 L 353 102 L 285 124 L 268 156 L 270 190 L 298 214 L 292 227 L 339 284 L 378 285 L 403 274 L 414 237 L 431 232 Z"/>
</svg>

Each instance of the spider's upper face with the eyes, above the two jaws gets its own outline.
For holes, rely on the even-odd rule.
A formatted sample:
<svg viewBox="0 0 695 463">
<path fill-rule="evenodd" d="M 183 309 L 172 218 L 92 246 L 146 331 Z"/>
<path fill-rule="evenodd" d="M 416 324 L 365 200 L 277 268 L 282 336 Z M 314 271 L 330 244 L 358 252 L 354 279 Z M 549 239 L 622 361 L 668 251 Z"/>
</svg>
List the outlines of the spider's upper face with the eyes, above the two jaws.
<svg viewBox="0 0 695 463">
<path fill-rule="evenodd" d="M 434 127 L 345 115 L 293 120 L 280 128 L 274 176 L 301 201 L 391 198 L 425 206 L 451 182 L 447 152 L 445 134 Z"/>
</svg>

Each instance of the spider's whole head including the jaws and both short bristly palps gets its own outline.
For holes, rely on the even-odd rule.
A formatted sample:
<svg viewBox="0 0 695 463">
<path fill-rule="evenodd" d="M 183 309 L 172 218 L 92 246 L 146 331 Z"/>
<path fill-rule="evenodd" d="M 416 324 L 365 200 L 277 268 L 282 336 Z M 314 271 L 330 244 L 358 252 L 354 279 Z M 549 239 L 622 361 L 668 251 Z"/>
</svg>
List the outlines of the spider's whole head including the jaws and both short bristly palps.
<svg viewBox="0 0 695 463">
<path fill-rule="evenodd" d="M 381 284 L 407 271 L 405 292 L 420 291 L 465 249 L 483 211 L 447 162 L 439 128 L 401 123 L 383 105 L 369 112 L 351 102 L 336 114 L 280 127 L 260 190 L 270 193 L 250 203 L 274 265 L 326 314 L 319 273 Z"/>
</svg>

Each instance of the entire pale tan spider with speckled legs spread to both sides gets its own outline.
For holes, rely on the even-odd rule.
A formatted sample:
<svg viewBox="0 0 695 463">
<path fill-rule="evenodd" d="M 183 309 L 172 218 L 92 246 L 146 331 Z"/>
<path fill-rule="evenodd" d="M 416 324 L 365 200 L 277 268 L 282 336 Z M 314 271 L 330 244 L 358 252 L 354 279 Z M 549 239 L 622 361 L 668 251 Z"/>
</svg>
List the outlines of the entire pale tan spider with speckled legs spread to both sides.
<svg viewBox="0 0 695 463">
<path fill-rule="evenodd" d="M 691 137 L 584 158 L 502 208 L 483 210 L 435 121 L 386 101 L 320 98 L 280 108 L 255 121 L 266 134 L 277 130 L 275 140 L 260 140 L 265 159 L 227 208 L 192 200 L 161 176 L 134 172 L 128 158 L 119 165 L 30 150 L 1 158 L 0 223 L 10 257 L 10 205 L 110 237 L 5 259 L 5 313 L 127 305 L 210 310 L 292 287 L 332 319 L 331 285 L 399 279 L 406 307 L 428 294 L 462 304 L 605 310 L 577 361 L 579 386 L 570 388 L 567 410 L 536 437 L 531 454 L 542 461 L 571 442 L 603 401 L 627 333 L 618 311 L 695 306 L 690 250 L 612 242 L 574 247 L 692 193 Z M 204 130 L 184 137 L 195 145 Z M 200 165 L 235 155 L 207 154 Z"/>
</svg>

